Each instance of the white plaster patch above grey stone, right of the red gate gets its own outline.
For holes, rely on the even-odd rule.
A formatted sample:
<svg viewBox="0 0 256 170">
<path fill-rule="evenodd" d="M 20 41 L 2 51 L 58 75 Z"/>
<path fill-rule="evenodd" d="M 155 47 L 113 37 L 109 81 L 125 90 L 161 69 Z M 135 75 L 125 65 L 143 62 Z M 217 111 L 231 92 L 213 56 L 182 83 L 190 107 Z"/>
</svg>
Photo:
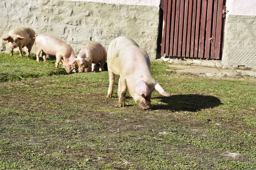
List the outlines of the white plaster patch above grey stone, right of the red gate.
<svg viewBox="0 0 256 170">
<path fill-rule="evenodd" d="M 227 0 L 226 6 L 227 15 L 256 15 L 256 0 Z"/>
</svg>

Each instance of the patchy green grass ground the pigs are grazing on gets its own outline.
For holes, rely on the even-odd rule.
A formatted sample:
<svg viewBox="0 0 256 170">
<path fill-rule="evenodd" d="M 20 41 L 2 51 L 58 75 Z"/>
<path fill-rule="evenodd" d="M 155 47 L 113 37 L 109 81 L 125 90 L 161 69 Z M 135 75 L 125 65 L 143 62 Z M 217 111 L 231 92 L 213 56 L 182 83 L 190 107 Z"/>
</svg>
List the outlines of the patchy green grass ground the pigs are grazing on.
<svg viewBox="0 0 256 170">
<path fill-rule="evenodd" d="M 171 94 L 143 111 L 106 98 L 108 72 L 67 75 L 0 54 L 0 170 L 255 170 L 256 80 L 201 78 L 152 62 Z M 21 77 L 21 78 L 20 78 Z M 239 153 L 232 158 L 227 153 Z"/>
</svg>

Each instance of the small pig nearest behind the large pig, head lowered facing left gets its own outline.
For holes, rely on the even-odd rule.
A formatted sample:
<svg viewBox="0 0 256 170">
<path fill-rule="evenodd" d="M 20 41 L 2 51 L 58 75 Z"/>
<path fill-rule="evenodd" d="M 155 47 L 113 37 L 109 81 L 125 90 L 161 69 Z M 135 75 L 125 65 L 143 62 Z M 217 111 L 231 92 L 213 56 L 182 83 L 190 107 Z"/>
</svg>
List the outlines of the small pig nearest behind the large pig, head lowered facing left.
<svg viewBox="0 0 256 170">
<path fill-rule="evenodd" d="M 99 42 L 89 42 L 82 48 L 70 64 L 77 63 L 79 73 L 83 73 L 88 67 L 87 72 L 94 71 L 95 65 L 99 63 L 99 71 L 104 71 L 104 64 L 107 59 L 107 52 Z M 91 66 L 91 67 L 90 67 Z"/>
</svg>

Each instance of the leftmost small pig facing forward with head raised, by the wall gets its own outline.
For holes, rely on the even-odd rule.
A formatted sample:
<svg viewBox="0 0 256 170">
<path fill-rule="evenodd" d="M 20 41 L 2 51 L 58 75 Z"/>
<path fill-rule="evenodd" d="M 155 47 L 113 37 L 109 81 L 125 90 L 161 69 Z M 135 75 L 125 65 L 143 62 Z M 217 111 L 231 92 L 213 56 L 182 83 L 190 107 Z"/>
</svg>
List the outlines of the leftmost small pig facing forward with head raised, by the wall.
<svg viewBox="0 0 256 170">
<path fill-rule="evenodd" d="M 35 31 L 29 27 L 16 28 L 11 30 L 8 35 L 3 38 L 3 40 L 8 41 L 11 48 L 11 56 L 13 55 L 13 48 L 18 47 L 20 57 L 22 57 L 22 48 L 25 46 L 28 48 L 26 56 L 29 56 L 35 42 Z"/>
</svg>

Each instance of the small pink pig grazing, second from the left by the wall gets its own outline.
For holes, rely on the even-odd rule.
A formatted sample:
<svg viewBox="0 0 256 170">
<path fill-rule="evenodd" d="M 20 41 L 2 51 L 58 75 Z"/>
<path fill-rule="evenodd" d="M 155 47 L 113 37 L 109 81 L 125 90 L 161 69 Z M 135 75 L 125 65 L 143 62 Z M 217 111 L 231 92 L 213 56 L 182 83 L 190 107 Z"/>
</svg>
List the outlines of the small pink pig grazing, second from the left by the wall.
<svg viewBox="0 0 256 170">
<path fill-rule="evenodd" d="M 58 68 L 61 59 L 63 66 L 68 74 L 71 74 L 73 69 L 77 69 L 76 63 L 70 65 L 70 61 L 76 59 L 73 48 L 61 39 L 50 35 L 41 34 L 35 38 L 36 60 L 39 62 L 39 54 L 42 51 L 44 62 L 47 63 L 46 56 L 56 56 L 55 68 Z"/>
</svg>

